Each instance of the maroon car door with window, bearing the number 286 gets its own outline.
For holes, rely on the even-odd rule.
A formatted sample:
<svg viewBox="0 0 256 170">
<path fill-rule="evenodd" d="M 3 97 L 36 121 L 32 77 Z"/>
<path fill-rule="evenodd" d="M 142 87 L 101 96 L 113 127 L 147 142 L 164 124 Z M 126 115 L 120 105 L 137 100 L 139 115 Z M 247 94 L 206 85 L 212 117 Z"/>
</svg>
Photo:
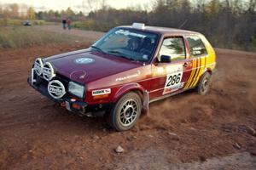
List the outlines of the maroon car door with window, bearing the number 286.
<svg viewBox="0 0 256 170">
<path fill-rule="evenodd" d="M 150 100 L 183 90 L 192 69 L 192 59 L 185 44 L 182 36 L 166 37 L 162 41 L 158 58 L 152 65 Z M 171 62 L 164 63 L 161 56 L 171 57 Z"/>
</svg>

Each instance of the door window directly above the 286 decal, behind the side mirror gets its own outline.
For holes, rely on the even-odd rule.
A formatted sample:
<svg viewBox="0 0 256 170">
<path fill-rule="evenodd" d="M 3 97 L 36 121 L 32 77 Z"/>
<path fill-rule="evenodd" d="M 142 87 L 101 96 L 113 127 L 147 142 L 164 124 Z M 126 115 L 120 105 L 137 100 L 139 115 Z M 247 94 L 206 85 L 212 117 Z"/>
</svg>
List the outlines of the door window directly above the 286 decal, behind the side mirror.
<svg viewBox="0 0 256 170">
<path fill-rule="evenodd" d="M 183 37 L 168 37 L 164 39 L 160 48 L 159 61 L 161 55 L 170 56 L 172 61 L 186 59 Z"/>
</svg>

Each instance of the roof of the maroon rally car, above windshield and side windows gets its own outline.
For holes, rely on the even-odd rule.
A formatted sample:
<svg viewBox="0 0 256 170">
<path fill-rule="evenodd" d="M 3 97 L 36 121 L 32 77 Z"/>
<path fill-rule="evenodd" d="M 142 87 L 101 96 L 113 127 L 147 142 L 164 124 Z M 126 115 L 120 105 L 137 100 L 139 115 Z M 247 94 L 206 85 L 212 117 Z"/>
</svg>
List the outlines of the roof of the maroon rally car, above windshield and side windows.
<svg viewBox="0 0 256 170">
<path fill-rule="evenodd" d="M 159 27 L 159 26 L 144 26 L 142 29 L 134 28 L 133 26 L 118 26 L 119 28 L 130 28 L 135 29 L 139 31 L 150 31 L 155 32 L 161 35 L 191 35 L 191 34 L 197 34 L 201 35 L 199 32 L 195 31 L 188 31 L 188 30 L 181 30 L 177 28 L 167 28 L 167 27 Z"/>
</svg>

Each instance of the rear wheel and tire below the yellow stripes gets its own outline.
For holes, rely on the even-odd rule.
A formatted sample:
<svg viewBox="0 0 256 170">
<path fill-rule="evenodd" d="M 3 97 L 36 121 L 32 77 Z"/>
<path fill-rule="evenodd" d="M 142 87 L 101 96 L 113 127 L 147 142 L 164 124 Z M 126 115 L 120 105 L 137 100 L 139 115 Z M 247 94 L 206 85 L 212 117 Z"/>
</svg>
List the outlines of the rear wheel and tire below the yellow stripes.
<svg viewBox="0 0 256 170">
<path fill-rule="evenodd" d="M 206 72 L 201 76 L 201 80 L 196 88 L 198 94 L 205 95 L 208 93 L 211 85 L 211 78 L 212 75 L 209 72 Z"/>
</svg>

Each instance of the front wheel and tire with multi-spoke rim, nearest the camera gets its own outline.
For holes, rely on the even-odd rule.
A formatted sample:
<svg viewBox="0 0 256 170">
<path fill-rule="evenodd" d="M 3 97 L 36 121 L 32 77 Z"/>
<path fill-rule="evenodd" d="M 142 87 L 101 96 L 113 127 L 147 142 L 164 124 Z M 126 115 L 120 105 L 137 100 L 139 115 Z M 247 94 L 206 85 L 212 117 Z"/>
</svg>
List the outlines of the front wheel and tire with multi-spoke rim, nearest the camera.
<svg viewBox="0 0 256 170">
<path fill-rule="evenodd" d="M 108 113 L 108 124 L 117 131 L 134 127 L 142 112 L 142 99 L 136 93 L 123 95 Z"/>
</svg>

